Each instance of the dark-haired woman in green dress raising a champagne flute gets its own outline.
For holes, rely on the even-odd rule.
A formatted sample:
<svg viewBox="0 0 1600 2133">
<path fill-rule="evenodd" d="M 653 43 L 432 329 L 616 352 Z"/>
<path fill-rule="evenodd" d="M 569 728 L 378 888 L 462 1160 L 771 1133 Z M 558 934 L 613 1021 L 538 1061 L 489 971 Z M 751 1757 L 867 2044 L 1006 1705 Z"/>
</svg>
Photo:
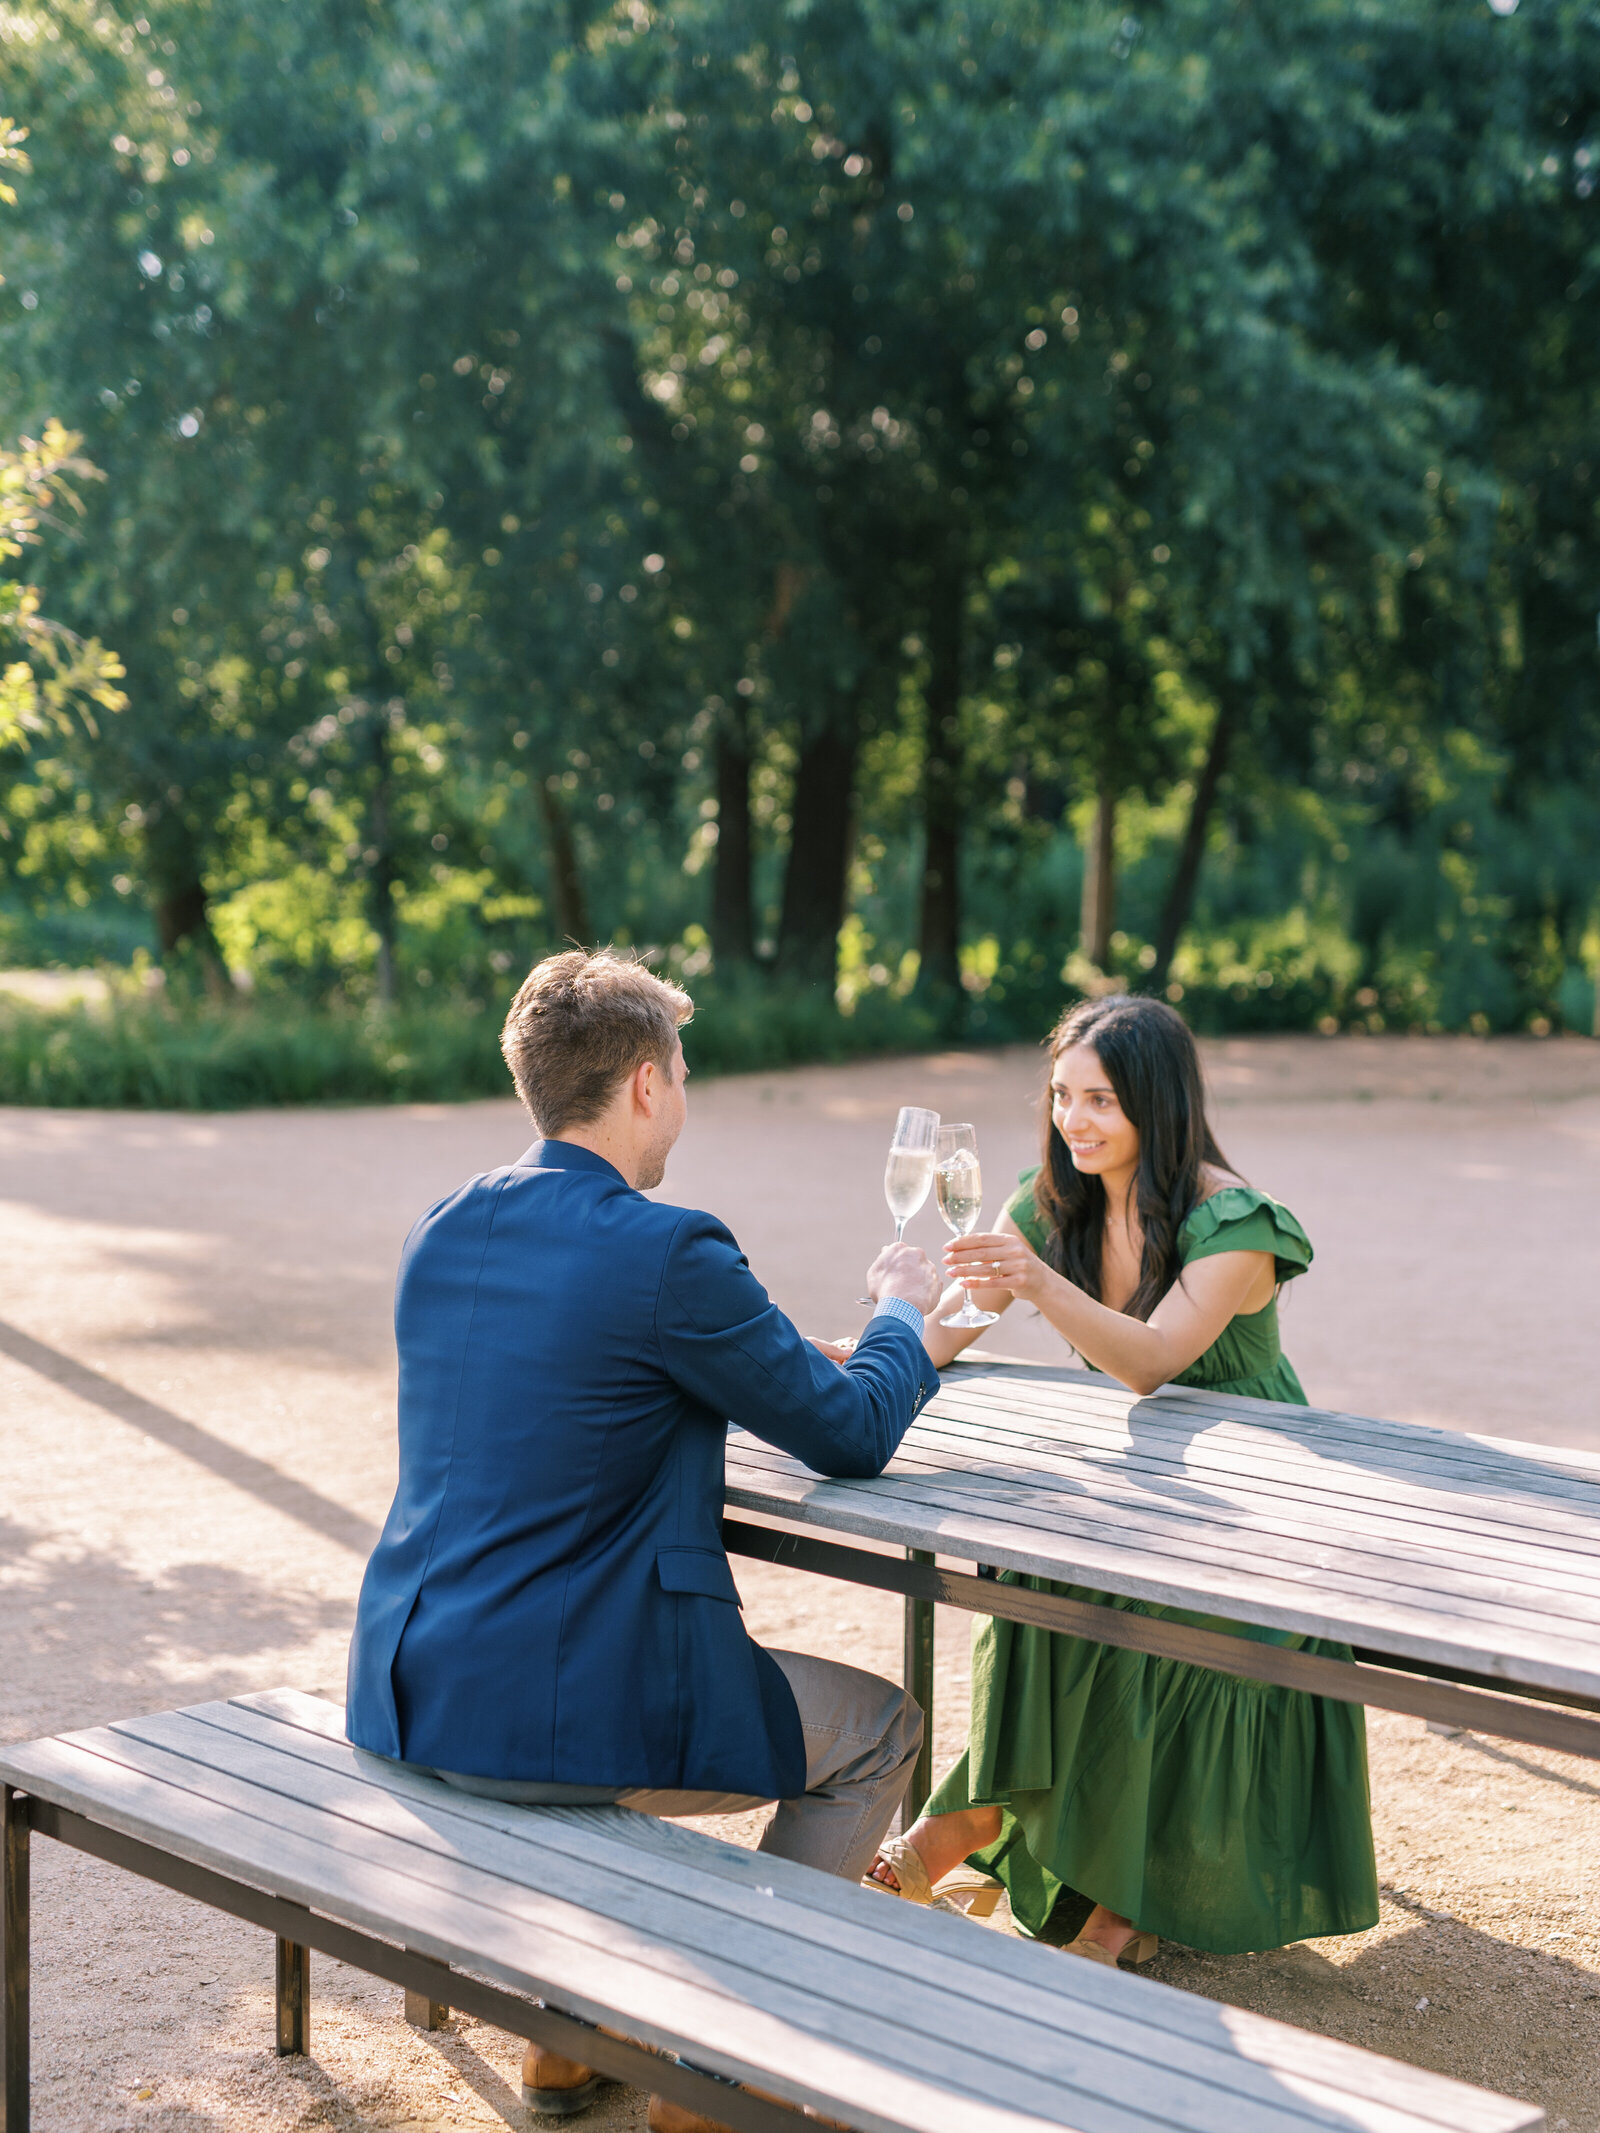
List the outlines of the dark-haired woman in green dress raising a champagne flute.
<svg viewBox="0 0 1600 2133">
<path fill-rule="evenodd" d="M 1052 1037 L 1043 1160 L 996 1231 L 945 1254 L 981 1308 L 1033 1303 L 1090 1369 L 1135 1393 L 1195 1384 L 1306 1406 L 1278 1290 L 1310 1265 L 1293 1214 L 1242 1184 L 1205 1122 L 1195 1041 L 1161 1000 L 1071 1009 Z M 951 1299 L 958 1290 L 951 1290 Z M 928 1325 L 934 1363 L 975 1335 Z M 1348 1647 L 1020 1578 L 1069 1600 L 1348 1659 Z M 928 1903 L 962 1862 L 1037 1935 L 1062 1888 L 1094 1903 L 1075 1954 L 1143 1960 L 1156 1937 L 1216 1954 L 1378 1922 L 1357 1704 L 1011 1621 L 973 1636 L 973 1723 L 873 1879 Z M 971 1883 L 971 1875 L 964 1877 Z M 954 1883 L 951 1883 L 954 1890 Z"/>
</svg>

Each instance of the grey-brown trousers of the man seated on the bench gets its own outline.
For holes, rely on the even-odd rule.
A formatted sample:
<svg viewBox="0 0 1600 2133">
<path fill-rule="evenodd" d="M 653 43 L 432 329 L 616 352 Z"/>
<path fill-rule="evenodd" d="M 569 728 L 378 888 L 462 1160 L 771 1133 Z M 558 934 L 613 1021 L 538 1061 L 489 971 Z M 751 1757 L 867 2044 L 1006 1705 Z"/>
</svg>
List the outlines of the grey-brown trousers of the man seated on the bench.
<svg viewBox="0 0 1600 2133">
<path fill-rule="evenodd" d="M 806 1790 L 779 1800 L 762 1832 L 762 1851 L 860 1881 L 883 1843 L 911 1783 L 922 1747 L 922 1711 L 892 1681 L 806 1651 L 772 1651 L 800 1709 L 806 1738 Z M 766 1802 L 742 1792 L 606 1792 L 597 1785 L 538 1785 L 516 1779 L 459 1777 L 448 1785 L 480 1800 L 518 1807 L 631 1807 L 640 1815 L 742 1815 Z"/>
</svg>

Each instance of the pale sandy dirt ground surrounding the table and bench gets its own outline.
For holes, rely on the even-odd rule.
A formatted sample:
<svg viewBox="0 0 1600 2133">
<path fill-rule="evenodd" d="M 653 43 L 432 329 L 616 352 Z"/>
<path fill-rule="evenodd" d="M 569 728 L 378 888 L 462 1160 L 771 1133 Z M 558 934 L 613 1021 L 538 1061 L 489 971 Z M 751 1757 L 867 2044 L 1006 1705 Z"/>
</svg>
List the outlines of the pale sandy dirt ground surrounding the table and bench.
<svg viewBox="0 0 1600 2133">
<path fill-rule="evenodd" d="M 1284 1312 L 1314 1401 L 1600 1448 L 1600 1045 L 1242 1039 L 1207 1069 L 1222 1145 L 1316 1244 Z M 666 1192 L 723 1214 L 802 1325 L 853 1327 L 896 1105 L 971 1116 L 998 1205 L 1037 1073 L 1001 1052 L 706 1084 Z M 393 1485 L 399 1241 L 527 1139 L 512 1105 L 0 1111 L 4 1736 L 279 1681 L 339 1694 Z M 932 1212 L 915 1235 L 937 1241 Z M 1001 1331 L 1050 1352 L 1039 1322 Z M 766 1640 L 896 1668 L 892 1602 L 749 1563 L 740 1585 Z M 941 1619 L 941 1762 L 964 1672 L 966 1621 Z M 1372 1743 L 1378 1930 L 1169 1952 L 1156 1975 L 1600 2133 L 1600 1764 L 1382 1715 Z M 397 1992 L 318 1960 L 316 2056 L 279 2063 L 262 1937 L 38 1854 L 41 2133 L 523 2124 L 497 2031 L 422 2037 Z M 642 2103 L 585 2124 L 642 2124 Z"/>
</svg>

